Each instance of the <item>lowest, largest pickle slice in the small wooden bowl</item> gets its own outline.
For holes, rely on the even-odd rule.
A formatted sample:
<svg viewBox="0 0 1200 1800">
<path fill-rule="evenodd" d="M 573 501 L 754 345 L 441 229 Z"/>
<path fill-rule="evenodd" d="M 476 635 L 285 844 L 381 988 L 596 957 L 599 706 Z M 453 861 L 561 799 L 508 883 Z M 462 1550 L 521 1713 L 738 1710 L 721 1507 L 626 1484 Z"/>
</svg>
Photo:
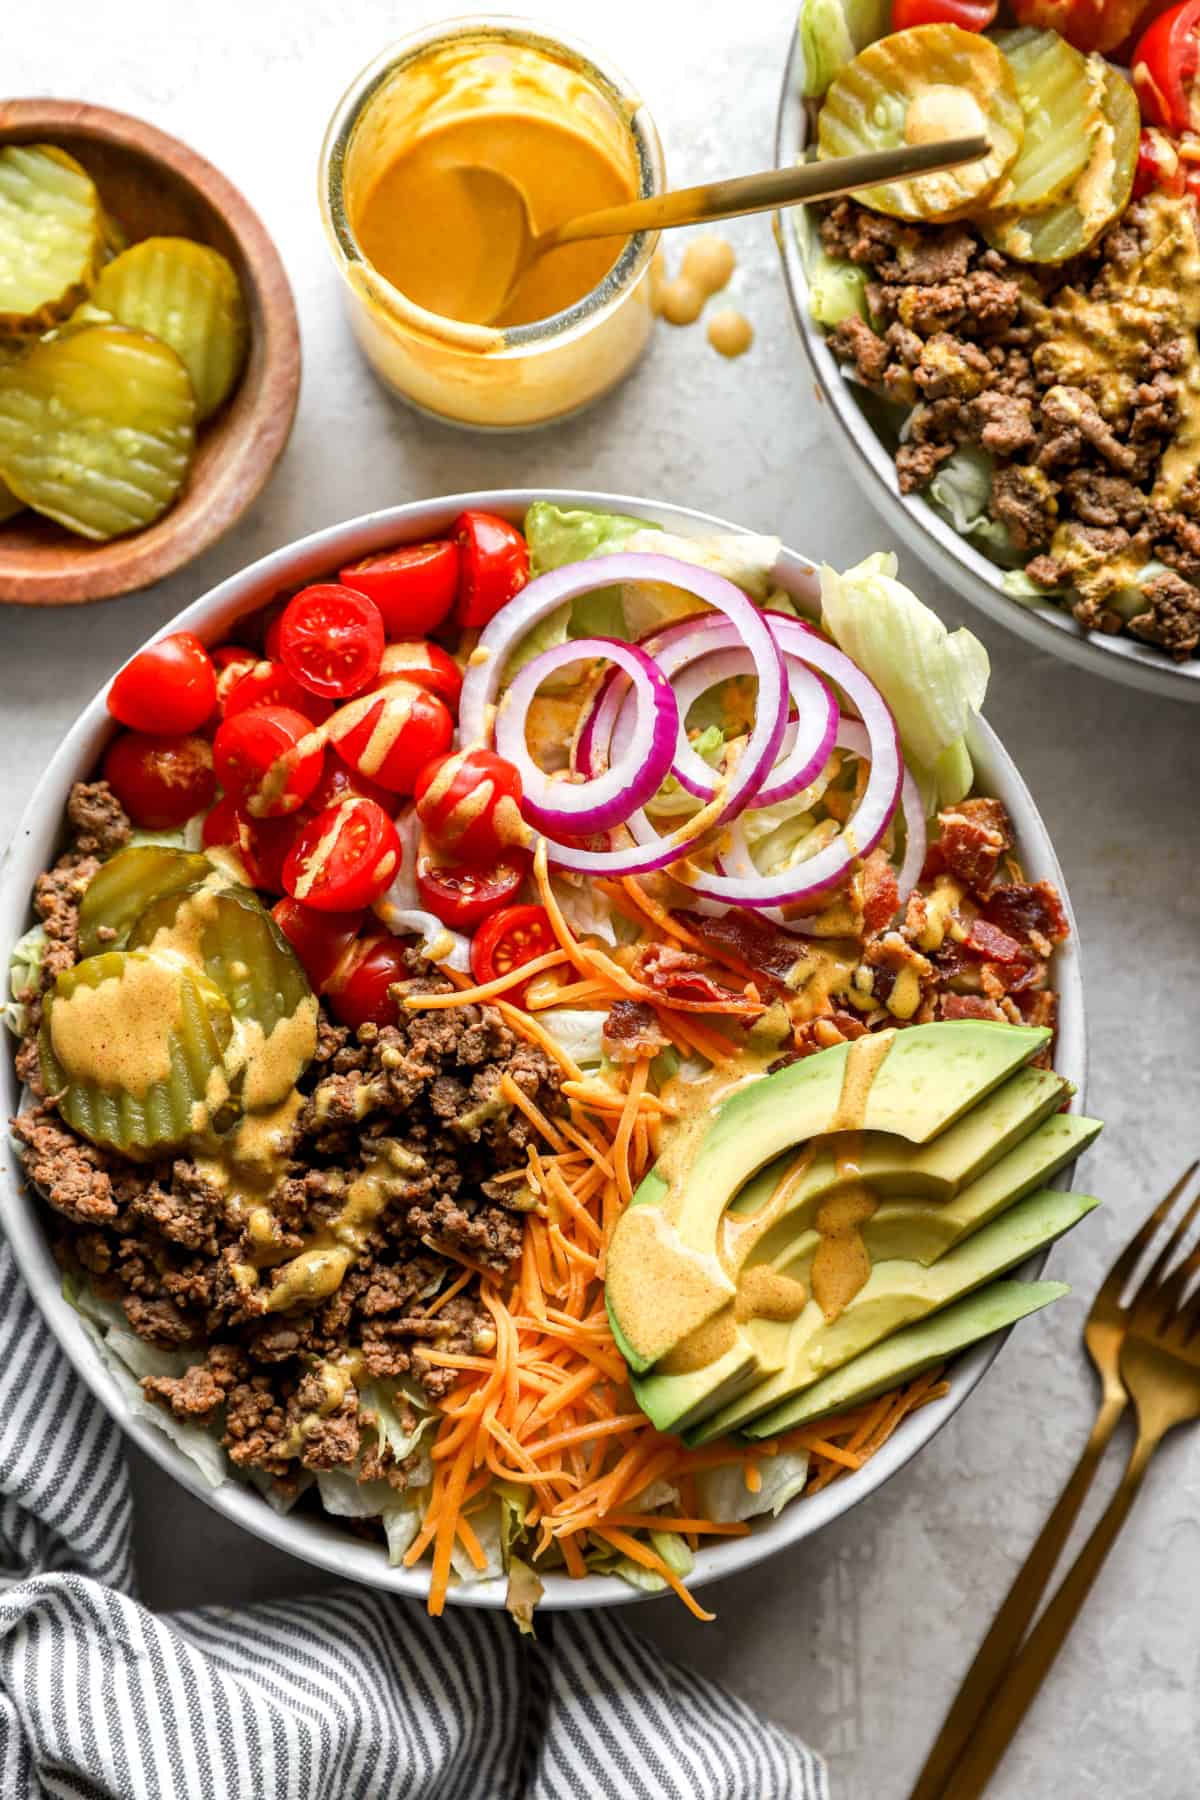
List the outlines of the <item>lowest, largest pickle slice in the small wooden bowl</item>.
<svg viewBox="0 0 1200 1800">
<path fill-rule="evenodd" d="M 153 524 L 196 441 L 187 369 L 128 326 L 81 326 L 0 369 L 0 475 L 27 506 L 85 538 Z"/>
</svg>

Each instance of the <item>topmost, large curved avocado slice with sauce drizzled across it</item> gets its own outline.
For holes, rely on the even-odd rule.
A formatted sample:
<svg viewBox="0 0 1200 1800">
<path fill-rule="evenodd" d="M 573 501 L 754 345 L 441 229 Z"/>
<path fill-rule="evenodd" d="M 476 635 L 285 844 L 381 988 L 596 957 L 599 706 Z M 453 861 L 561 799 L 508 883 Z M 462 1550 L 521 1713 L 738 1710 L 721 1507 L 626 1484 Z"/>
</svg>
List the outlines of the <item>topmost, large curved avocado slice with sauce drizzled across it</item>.
<svg viewBox="0 0 1200 1800">
<path fill-rule="evenodd" d="M 979 1019 L 876 1031 L 739 1087 L 698 1138 L 676 1130 L 608 1247 L 608 1318 L 630 1368 L 644 1373 L 732 1301 L 718 1228 L 765 1163 L 824 1132 L 928 1143 L 1049 1037 Z"/>
</svg>

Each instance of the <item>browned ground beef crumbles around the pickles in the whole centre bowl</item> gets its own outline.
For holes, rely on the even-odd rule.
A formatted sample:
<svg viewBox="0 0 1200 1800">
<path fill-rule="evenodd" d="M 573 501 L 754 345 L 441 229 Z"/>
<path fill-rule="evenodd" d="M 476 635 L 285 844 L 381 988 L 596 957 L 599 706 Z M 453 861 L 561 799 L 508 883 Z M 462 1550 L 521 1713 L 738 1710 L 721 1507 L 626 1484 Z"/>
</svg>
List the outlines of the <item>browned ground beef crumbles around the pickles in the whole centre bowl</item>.
<svg viewBox="0 0 1200 1800">
<path fill-rule="evenodd" d="M 130 821 L 103 781 L 72 788 L 68 821 L 74 839 L 34 895 L 49 940 L 43 990 L 77 959 L 79 900 L 99 857 L 130 839 Z M 416 954 L 405 985 L 448 990 Z M 477 1271 L 502 1274 L 520 1255 L 524 1188 L 497 1177 L 524 1168 L 533 1136 L 504 1084 L 554 1116 L 563 1111 L 558 1067 L 489 1006 L 401 1012 L 394 1026 L 360 1031 L 322 1015 L 272 1199 L 281 1251 L 295 1255 L 380 1156 L 396 1179 L 340 1287 L 320 1305 L 266 1312 L 275 1271 L 248 1291 L 237 1278 L 250 1253 L 245 1224 L 198 1161 L 133 1163 L 59 1120 L 54 1096 L 36 1082 L 40 1013 L 34 997 L 18 1049 L 38 1103 L 13 1129 L 31 1184 L 54 1210 L 56 1255 L 115 1300 L 148 1343 L 194 1350 L 184 1373 L 148 1377 L 146 1393 L 178 1418 L 219 1427 L 237 1465 L 284 1483 L 306 1469 L 354 1465 L 362 1454 L 363 1478 L 403 1487 L 408 1471 L 371 1429 L 354 1384 L 326 1408 L 320 1366 L 356 1350 L 369 1379 L 403 1377 L 437 1400 L 457 1377 L 423 1361 L 421 1348 L 479 1354 L 495 1343 Z M 466 1287 L 430 1316 L 434 1298 L 464 1273 Z"/>
</svg>

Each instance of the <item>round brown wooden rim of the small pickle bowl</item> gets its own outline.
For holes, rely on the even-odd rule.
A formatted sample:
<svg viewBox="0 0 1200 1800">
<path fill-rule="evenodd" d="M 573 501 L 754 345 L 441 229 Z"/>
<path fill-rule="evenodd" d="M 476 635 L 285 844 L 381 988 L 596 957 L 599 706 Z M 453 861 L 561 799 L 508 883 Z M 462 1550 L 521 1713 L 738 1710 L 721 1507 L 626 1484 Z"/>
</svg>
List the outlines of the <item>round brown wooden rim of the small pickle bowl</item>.
<svg viewBox="0 0 1200 1800">
<path fill-rule="evenodd" d="M 300 398 L 300 326 L 291 283 L 275 239 L 239 187 L 169 131 L 90 101 L 34 95 L 0 101 L 0 144 L 29 142 L 63 133 L 113 146 L 171 169 L 221 220 L 237 247 L 239 272 L 252 317 L 252 349 L 261 356 L 254 394 L 236 421 L 219 463 L 205 472 L 198 490 L 187 488 L 167 511 L 142 531 L 106 544 L 70 540 L 79 554 L 61 569 L 4 571 L 0 542 L 0 601 L 13 607 L 85 607 L 117 599 L 176 574 L 225 536 L 254 506 L 282 455 Z M 237 407 L 241 385 L 218 414 Z M 95 553 L 94 565 L 88 549 Z"/>
</svg>

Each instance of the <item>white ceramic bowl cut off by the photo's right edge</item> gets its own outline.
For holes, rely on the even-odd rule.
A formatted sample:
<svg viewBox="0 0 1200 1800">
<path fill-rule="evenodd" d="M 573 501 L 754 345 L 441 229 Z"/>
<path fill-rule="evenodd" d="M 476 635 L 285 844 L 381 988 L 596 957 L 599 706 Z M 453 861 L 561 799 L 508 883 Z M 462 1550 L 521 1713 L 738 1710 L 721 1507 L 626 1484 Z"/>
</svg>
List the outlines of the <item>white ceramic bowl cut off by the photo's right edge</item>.
<svg viewBox="0 0 1200 1800">
<path fill-rule="evenodd" d="M 793 32 L 775 122 L 775 162 L 781 167 L 799 162 L 808 139 L 808 119 L 801 99 L 802 67 L 801 38 Z M 795 326 L 813 371 L 817 398 L 828 409 L 833 436 L 849 472 L 887 524 L 957 594 L 1038 650 L 1166 700 L 1200 700 L 1200 657 L 1171 662 L 1164 650 L 1142 644 L 1135 637 L 1085 632 L 1069 612 L 1051 601 L 1025 605 L 1013 599 L 1004 592 L 1002 571 L 993 562 L 968 544 L 919 493 L 900 491 L 892 450 L 867 412 L 871 396 L 846 380 L 826 344 L 824 329 L 811 315 L 797 221 L 799 207 L 777 214 L 775 220 L 775 241 Z"/>
</svg>

